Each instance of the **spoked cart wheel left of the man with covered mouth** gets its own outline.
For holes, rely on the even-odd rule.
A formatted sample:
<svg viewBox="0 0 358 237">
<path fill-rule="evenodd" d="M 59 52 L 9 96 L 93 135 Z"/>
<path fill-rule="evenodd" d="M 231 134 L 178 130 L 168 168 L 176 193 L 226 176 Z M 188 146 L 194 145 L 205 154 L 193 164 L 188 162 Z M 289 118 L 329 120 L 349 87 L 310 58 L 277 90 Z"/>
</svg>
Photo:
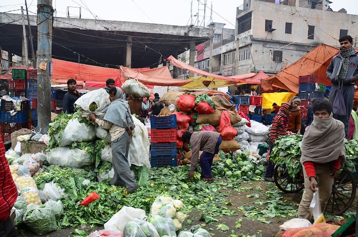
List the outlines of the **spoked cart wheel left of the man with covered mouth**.
<svg viewBox="0 0 358 237">
<path fill-rule="evenodd" d="M 279 190 L 285 193 L 299 192 L 304 188 L 303 177 L 296 177 L 295 180 L 289 176 L 286 169 L 281 165 L 276 165 L 273 171 L 273 179 Z"/>
</svg>

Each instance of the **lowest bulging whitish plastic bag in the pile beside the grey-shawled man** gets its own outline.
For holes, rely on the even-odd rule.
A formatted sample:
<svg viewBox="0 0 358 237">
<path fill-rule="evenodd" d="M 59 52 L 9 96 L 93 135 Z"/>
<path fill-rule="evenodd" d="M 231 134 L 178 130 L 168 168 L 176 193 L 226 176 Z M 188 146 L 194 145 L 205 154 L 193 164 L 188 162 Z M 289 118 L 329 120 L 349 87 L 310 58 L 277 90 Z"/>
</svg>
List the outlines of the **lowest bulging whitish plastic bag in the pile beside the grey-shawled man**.
<svg viewBox="0 0 358 237">
<path fill-rule="evenodd" d="M 47 161 L 49 164 L 59 165 L 61 167 L 81 168 L 82 166 L 93 163 L 88 152 L 69 147 L 56 147 L 47 152 Z"/>
</svg>

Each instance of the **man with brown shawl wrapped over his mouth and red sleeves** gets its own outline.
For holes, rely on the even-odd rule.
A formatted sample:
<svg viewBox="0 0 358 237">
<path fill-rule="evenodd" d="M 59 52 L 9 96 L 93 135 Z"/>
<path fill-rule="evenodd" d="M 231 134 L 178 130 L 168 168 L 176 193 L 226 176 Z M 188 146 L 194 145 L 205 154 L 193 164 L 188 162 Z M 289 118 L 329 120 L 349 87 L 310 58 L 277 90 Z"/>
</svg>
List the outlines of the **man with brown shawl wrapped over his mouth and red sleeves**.
<svg viewBox="0 0 358 237">
<path fill-rule="evenodd" d="M 301 163 L 304 186 L 298 207 L 298 218 L 311 221 L 309 206 L 319 187 L 321 210 L 325 210 L 332 192 L 334 178 L 346 160 L 344 124 L 333 118 L 332 106 L 326 100 L 312 104 L 313 122 L 302 139 Z"/>
</svg>

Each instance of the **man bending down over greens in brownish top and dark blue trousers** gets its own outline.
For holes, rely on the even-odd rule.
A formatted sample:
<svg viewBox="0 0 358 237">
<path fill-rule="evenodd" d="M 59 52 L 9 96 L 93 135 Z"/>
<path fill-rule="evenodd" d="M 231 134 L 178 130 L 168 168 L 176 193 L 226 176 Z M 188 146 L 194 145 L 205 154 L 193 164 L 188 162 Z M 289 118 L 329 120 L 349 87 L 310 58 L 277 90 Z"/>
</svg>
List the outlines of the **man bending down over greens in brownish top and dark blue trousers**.
<svg viewBox="0 0 358 237">
<path fill-rule="evenodd" d="M 191 146 L 191 162 L 189 171 L 189 180 L 194 176 L 194 170 L 199 158 L 199 151 L 203 151 L 200 156 L 201 180 L 212 182 L 211 165 L 215 154 L 219 152 L 219 146 L 222 138 L 220 133 L 212 131 L 184 132 L 181 140 L 189 143 Z"/>
</svg>

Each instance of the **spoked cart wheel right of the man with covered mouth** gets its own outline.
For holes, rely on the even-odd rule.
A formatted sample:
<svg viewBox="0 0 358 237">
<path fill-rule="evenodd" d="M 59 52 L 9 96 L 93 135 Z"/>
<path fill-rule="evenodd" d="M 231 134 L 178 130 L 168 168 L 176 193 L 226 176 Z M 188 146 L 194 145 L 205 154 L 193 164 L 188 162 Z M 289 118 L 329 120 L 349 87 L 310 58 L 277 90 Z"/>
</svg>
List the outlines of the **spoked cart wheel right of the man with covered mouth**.
<svg viewBox="0 0 358 237">
<path fill-rule="evenodd" d="M 344 167 L 335 178 L 325 212 L 330 215 L 343 214 L 356 198 L 356 189 L 355 177 Z"/>
</svg>

